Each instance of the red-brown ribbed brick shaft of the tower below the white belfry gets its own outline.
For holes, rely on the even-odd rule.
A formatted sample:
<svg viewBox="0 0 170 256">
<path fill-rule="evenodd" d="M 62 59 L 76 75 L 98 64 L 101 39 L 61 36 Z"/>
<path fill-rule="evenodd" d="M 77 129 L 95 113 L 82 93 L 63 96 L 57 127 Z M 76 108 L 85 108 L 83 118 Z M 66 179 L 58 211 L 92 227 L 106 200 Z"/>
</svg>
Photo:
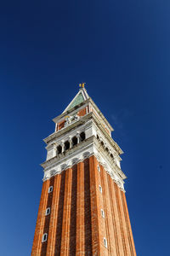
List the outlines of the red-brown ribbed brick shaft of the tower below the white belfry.
<svg viewBox="0 0 170 256">
<path fill-rule="evenodd" d="M 31 256 L 136 256 L 125 194 L 98 165 L 91 156 L 42 184 Z"/>
</svg>

